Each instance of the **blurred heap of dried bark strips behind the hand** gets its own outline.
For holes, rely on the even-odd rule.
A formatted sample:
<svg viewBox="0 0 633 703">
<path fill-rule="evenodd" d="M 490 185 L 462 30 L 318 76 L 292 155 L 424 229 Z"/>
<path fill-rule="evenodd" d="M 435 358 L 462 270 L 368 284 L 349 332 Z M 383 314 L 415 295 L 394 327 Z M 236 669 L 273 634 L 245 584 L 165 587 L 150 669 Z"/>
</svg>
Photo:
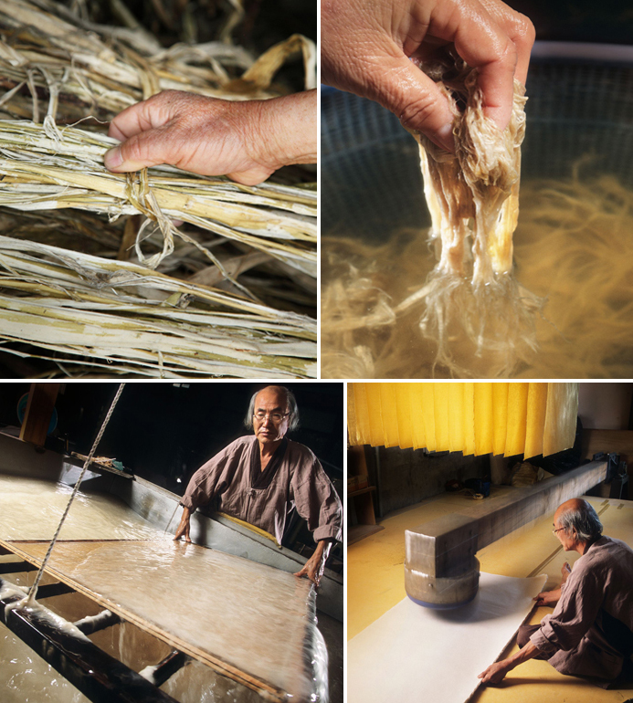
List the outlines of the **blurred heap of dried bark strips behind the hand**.
<svg viewBox="0 0 633 703">
<path fill-rule="evenodd" d="M 44 5 L 48 11 L 43 11 Z M 89 116 L 109 121 L 121 110 L 166 89 L 225 100 L 265 99 L 275 73 L 301 55 L 305 88 L 316 85 L 313 42 L 293 35 L 257 60 L 225 42 L 164 49 L 146 33 L 123 34 L 95 26 L 87 31 L 73 16 L 61 18 L 50 0 L 0 0 L 0 97 L 5 116 L 40 121 L 48 112 L 58 123 Z M 90 24 L 88 24 L 90 26 Z M 97 30 L 97 31 L 95 31 Z"/>
</svg>

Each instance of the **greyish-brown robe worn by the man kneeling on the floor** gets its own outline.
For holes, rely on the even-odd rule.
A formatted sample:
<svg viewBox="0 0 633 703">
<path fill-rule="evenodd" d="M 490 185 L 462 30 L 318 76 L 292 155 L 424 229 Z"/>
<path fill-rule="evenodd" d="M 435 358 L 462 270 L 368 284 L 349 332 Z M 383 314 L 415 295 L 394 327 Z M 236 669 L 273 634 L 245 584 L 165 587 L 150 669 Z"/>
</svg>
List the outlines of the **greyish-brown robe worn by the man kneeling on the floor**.
<svg viewBox="0 0 633 703">
<path fill-rule="evenodd" d="M 613 680 L 633 654 L 633 551 L 601 537 L 574 564 L 554 613 L 531 635 L 561 674 Z"/>
</svg>

